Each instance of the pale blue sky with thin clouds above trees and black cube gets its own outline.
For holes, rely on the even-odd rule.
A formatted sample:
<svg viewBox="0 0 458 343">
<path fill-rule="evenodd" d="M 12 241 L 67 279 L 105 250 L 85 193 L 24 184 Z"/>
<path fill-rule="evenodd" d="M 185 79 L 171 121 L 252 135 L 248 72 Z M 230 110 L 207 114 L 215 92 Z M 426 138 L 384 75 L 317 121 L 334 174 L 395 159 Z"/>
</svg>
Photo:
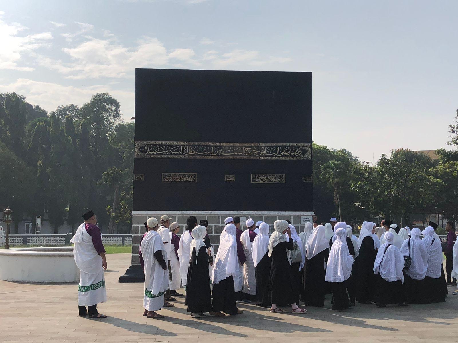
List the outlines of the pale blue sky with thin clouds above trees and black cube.
<svg viewBox="0 0 458 343">
<path fill-rule="evenodd" d="M 109 92 L 128 121 L 135 68 L 307 71 L 317 144 L 370 162 L 450 150 L 456 13 L 456 0 L 3 0 L 0 92 L 47 111 Z"/>
</svg>

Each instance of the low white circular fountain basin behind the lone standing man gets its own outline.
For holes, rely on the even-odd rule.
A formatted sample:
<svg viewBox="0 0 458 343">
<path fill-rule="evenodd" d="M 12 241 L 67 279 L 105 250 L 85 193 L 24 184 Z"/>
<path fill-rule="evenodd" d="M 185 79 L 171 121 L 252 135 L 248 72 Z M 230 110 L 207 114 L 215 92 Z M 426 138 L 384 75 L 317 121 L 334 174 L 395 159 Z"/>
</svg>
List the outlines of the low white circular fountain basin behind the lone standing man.
<svg viewBox="0 0 458 343">
<path fill-rule="evenodd" d="M 0 249 L 0 280 L 78 282 L 73 247 Z"/>
</svg>

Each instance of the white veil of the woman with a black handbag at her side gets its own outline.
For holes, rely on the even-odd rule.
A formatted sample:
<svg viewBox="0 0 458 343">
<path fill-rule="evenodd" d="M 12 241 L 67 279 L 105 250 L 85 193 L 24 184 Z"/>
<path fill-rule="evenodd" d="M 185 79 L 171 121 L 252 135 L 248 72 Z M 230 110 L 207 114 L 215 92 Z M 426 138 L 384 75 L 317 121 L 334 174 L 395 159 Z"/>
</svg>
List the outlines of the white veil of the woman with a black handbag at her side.
<svg viewBox="0 0 458 343">
<path fill-rule="evenodd" d="M 405 240 L 401 247 L 401 254 L 409 256 L 409 241 L 410 241 L 410 257 L 412 263 L 409 269 L 405 269 L 407 275 L 415 280 L 425 279 L 426 270 L 428 269 L 428 252 L 425 244 L 420 240 L 420 229 L 414 227 L 410 233 L 410 239 Z"/>
</svg>

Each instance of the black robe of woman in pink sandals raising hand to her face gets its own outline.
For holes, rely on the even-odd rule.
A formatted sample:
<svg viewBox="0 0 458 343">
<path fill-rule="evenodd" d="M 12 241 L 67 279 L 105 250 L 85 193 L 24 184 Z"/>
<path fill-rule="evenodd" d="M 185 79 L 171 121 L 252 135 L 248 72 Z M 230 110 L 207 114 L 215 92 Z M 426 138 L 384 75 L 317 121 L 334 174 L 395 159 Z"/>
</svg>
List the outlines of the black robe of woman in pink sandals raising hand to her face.
<svg viewBox="0 0 458 343">
<path fill-rule="evenodd" d="M 280 242 L 273 247 L 272 263 L 269 275 L 269 300 L 271 304 L 289 305 L 297 299 L 293 291 L 293 276 L 288 262 L 286 249 L 293 250 L 293 239 L 289 242 Z"/>
</svg>

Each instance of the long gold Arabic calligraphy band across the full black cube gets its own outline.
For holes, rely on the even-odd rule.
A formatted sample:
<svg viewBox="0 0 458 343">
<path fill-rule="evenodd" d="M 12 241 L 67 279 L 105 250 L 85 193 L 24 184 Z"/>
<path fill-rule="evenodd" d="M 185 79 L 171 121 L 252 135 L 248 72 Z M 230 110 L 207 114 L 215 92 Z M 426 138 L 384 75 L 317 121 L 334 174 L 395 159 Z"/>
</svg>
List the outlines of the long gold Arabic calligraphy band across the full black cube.
<svg viewBox="0 0 458 343">
<path fill-rule="evenodd" d="M 135 142 L 136 158 L 311 160 L 309 143 Z"/>
</svg>

